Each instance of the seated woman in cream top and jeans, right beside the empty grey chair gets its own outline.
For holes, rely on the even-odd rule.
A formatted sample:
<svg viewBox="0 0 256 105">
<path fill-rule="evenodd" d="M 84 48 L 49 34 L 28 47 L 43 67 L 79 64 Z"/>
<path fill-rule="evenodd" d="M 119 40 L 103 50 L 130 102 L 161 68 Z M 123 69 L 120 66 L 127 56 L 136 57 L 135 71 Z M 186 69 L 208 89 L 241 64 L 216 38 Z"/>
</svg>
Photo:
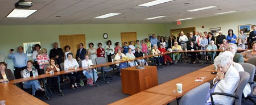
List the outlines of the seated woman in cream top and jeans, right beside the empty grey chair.
<svg viewBox="0 0 256 105">
<path fill-rule="evenodd" d="M 122 61 L 122 57 L 126 57 L 125 54 L 122 53 L 121 49 L 117 49 L 117 54 L 115 54 L 114 60 L 115 61 Z M 115 64 L 119 68 L 119 72 L 123 68 L 127 68 L 127 62 L 121 62 L 119 64 Z M 119 73 L 119 76 L 121 76 L 121 72 Z"/>
</svg>

